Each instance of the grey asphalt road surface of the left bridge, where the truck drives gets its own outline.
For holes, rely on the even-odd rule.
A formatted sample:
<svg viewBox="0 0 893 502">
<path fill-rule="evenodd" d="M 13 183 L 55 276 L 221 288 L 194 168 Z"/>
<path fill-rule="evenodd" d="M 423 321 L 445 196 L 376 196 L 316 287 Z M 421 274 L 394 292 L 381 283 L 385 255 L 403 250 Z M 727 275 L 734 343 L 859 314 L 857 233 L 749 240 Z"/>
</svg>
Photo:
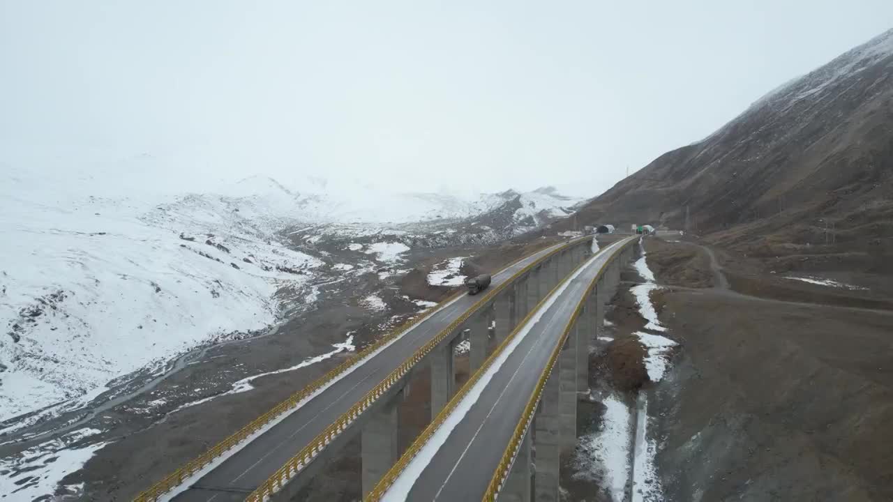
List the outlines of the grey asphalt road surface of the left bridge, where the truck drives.
<svg viewBox="0 0 893 502">
<path fill-rule="evenodd" d="M 526 256 L 493 275 L 492 287 L 505 282 L 515 272 L 566 244 L 547 247 Z M 371 356 L 352 372 L 342 375 L 320 394 L 292 411 L 257 439 L 230 454 L 209 473 L 188 487 L 175 489 L 163 499 L 184 502 L 229 502 L 244 500 L 263 481 L 286 464 L 291 456 L 308 445 L 321 431 L 384 380 L 399 364 L 455 321 L 480 297 L 462 295 L 441 307 L 424 321 L 407 330 L 378 354 Z M 172 495 L 172 497 L 171 497 Z"/>
</svg>

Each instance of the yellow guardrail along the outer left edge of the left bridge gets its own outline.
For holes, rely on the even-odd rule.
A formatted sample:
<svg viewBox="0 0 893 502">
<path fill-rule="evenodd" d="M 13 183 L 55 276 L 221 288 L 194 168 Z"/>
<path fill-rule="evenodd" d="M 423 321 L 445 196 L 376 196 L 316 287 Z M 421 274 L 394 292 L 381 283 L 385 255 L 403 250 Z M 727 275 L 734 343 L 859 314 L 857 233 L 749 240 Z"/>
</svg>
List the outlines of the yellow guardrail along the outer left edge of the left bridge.
<svg viewBox="0 0 893 502">
<path fill-rule="evenodd" d="M 556 252 L 560 251 L 561 249 L 571 245 L 573 242 L 579 242 L 579 239 L 578 239 L 578 241 L 571 241 L 571 242 L 564 243 L 563 245 L 556 246 L 554 250 L 547 253 L 546 255 L 541 256 L 533 264 L 534 265 L 538 264 L 542 260 L 545 260 L 548 256 L 554 255 Z M 506 265 L 503 270 L 505 270 L 509 267 L 512 267 L 514 264 L 521 262 L 522 260 L 526 259 L 527 257 L 528 256 L 522 256 L 521 258 L 518 258 L 517 260 L 513 261 L 511 264 Z M 510 278 L 509 280 L 506 280 L 503 284 L 500 285 L 500 287 L 505 287 L 505 284 L 511 282 L 518 275 L 529 270 L 529 268 L 530 267 L 525 267 L 522 270 L 522 272 L 518 272 L 518 273 L 514 274 L 512 276 L 512 278 Z M 497 288 L 497 289 L 499 289 L 499 288 Z M 190 460 L 187 464 L 184 464 L 183 466 L 179 467 L 179 469 L 177 469 L 176 471 L 165 476 L 161 481 L 157 481 L 149 489 L 146 489 L 146 490 L 140 492 L 137 495 L 137 497 L 134 498 L 134 500 L 136 502 L 155 501 L 155 500 L 158 500 L 158 498 L 160 498 L 161 496 L 163 496 L 163 494 L 171 491 L 171 489 L 175 489 L 175 488 L 179 487 L 179 485 L 181 485 L 183 483 L 183 481 L 187 480 L 190 476 L 197 473 L 199 470 L 204 468 L 207 464 L 210 464 L 211 462 L 213 462 L 213 460 L 215 458 L 221 456 L 223 453 L 229 451 L 231 448 L 233 448 L 236 445 L 238 445 L 239 443 L 243 442 L 244 440 L 246 440 L 249 436 L 251 436 L 255 432 L 260 431 L 263 428 L 263 426 L 267 425 L 272 420 L 279 417 L 280 414 L 283 414 L 283 413 L 287 412 L 288 410 L 293 409 L 296 406 L 300 405 L 302 403 L 302 401 L 304 401 L 308 397 L 311 397 L 311 395 L 314 392 L 316 392 L 317 390 L 324 387 L 330 381 L 333 381 L 336 378 L 338 378 L 338 376 L 341 373 L 346 372 L 348 369 L 353 367 L 355 364 L 358 364 L 364 358 L 371 355 L 371 353 L 375 352 L 380 347 L 384 347 L 385 345 L 390 343 L 391 340 L 396 339 L 397 337 L 402 335 L 406 330 L 409 330 L 410 328 L 412 328 L 415 324 L 418 324 L 419 322 L 422 322 L 423 320 L 427 319 L 431 314 L 434 314 L 441 307 L 443 307 L 447 303 L 453 301 L 456 297 L 459 297 L 462 294 L 463 294 L 463 292 L 459 291 L 453 295 L 450 295 L 449 297 L 447 297 L 446 299 L 444 299 L 443 301 L 438 303 L 438 305 L 436 307 L 430 309 L 427 313 L 423 313 L 419 316 L 414 317 L 413 319 L 410 319 L 409 321 L 405 322 L 404 324 L 402 324 L 401 326 L 396 328 L 396 330 L 391 331 L 387 336 L 384 336 L 381 339 L 376 340 L 371 345 L 364 347 L 363 350 L 358 352 L 357 354 L 355 354 L 355 356 L 347 358 L 344 362 L 342 362 L 341 364 L 338 364 L 337 366 L 332 368 L 329 372 L 326 372 L 320 378 L 312 381 L 310 384 L 305 386 L 304 389 L 298 390 L 295 394 L 292 394 L 286 400 L 282 401 L 279 405 L 274 406 L 266 413 L 255 418 L 255 420 L 251 421 L 246 426 L 242 427 L 241 429 L 234 432 L 233 434 L 230 434 L 230 436 L 228 438 L 223 439 L 221 442 L 214 445 L 213 448 L 210 448 L 210 449 L 204 451 L 204 453 L 202 455 L 197 456 L 196 458 Z M 481 302 L 487 300 L 487 298 L 488 298 L 487 296 L 483 297 L 481 299 Z M 476 305 L 473 305 L 472 308 L 477 308 L 479 306 L 480 306 L 480 302 Z M 314 448 L 317 448 L 319 446 L 318 444 L 316 444 L 318 442 L 318 440 L 323 437 L 328 437 L 327 436 L 328 432 L 330 432 L 329 429 L 327 429 L 326 431 L 323 431 L 323 433 L 317 437 L 317 440 L 313 441 L 312 446 L 314 446 Z M 305 448 L 305 449 L 307 449 L 307 448 Z M 304 451 L 304 450 L 302 450 L 302 451 Z M 270 483 L 270 480 L 268 480 L 266 483 L 261 485 L 261 488 L 267 486 L 268 483 Z"/>
</svg>

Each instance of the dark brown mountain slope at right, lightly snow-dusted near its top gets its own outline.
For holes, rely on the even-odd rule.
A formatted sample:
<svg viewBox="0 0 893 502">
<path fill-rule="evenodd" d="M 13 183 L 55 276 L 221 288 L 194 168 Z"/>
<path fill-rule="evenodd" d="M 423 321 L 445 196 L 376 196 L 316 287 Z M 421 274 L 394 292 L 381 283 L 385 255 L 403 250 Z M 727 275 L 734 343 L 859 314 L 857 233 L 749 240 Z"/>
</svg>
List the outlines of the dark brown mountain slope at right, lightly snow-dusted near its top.
<svg viewBox="0 0 893 502">
<path fill-rule="evenodd" d="M 893 30 L 660 156 L 579 220 L 681 229 L 688 209 L 691 230 L 782 266 L 893 272 L 891 172 Z"/>
</svg>

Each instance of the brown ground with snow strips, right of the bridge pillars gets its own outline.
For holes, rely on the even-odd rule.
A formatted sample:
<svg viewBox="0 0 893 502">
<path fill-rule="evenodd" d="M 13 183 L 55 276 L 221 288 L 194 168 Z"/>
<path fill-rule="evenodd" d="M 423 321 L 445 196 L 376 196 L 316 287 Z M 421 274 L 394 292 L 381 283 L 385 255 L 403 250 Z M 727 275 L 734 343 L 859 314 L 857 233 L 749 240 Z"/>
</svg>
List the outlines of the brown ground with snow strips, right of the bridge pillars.
<svg viewBox="0 0 893 502">
<path fill-rule="evenodd" d="M 590 355 L 596 402 L 579 408 L 563 499 L 888 500 L 889 282 L 833 272 L 806 277 L 835 285 L 804 282 L 697 238 L 646 243 L 662 285 L 651 299 L 680 345 L 663 380 L 649 381 L 632 335 L 646 325 L 630 293 L 641 278 L 625 271 Z M 642 396 L 659 497 L 624 486 L 631 473 L 610 448 L 612 432 L 631 440 Z M 627 448 L 630 468 L 630 443 L 620 443 L 613 454 Z"/>
</svg>

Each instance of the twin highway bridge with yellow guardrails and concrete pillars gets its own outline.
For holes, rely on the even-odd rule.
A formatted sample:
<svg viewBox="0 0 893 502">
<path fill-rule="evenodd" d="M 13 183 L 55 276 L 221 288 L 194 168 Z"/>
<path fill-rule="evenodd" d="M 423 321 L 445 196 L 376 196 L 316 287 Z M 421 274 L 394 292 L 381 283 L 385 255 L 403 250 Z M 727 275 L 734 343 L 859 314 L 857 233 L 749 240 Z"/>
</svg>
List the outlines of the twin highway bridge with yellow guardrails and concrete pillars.
<svg viewBox="0 0 893 502">
<path fill-rule="evenodd" d="M 547 418 L 532 421 L 532 414 L 525 413 L 525 410 L 530 407 L 529 401 L 536 394 L 531 392 L 538 387 L 545 389 L 542 392 L 543 404 L 539 404 L 537 399 L 538 408 L 547 408 L 544 404 L 550 402 L 546 396 L 549 395 L 547 390 L 551 389 L 548 382 L 553 379 L 549 377 L 544 380 L 546 370 L 555 374 L 562 372 L 572 380 L 572 385 L 566 381 L 554 385 L 567 388 L 566 395 L 562 395 L 564 406 L 576 409 L 578 389 L 587 390 L 589 335 L 594 333 L 593 323 L 600 322 L 605 301 L 613 295 L 620 264 L 631 255 L 632 240 L 624 238 L 593 256 L 592 236 L 575 238 L 522 258 L 494 274 L 491 287 L 483 294 L 459 294 L 448 298 L 420 319 L 363 349 L 202 456 L 173 471 L 136 499 L 207 502 L 288 500 L 313 478 L 328 459 L 338 456 L 340 447 L 357 433 L 361 435 L 364 496 L 372 499 L 392 498 L 400 493 L 395 491 L 395 487 L 407 486 L 406 473 L 418 470 L 419 463 L 427 458 L 417 454 L 422 448 L 430 453 L 432 443 L 429 443 L 429 439 L 435 436 L 439 425 L 446 420 L 455 421 L 458 403 L 467 404 L 471 397 L 477 395 L 469 395 L 469 390 L 477 390 L 484 384 L 482 389 L 486 392 L 480 392 L 480 403 L 472 406 L 474 413 L 463 414 L 460 421 L 462 428 L 456 428 L 453 432 L 460 434 L 460 430 L 466 431 L 469 427 L 495 431 L 499 425 L 487 419 L 493 415 L 502 420 L 503 431 L 501 435 L 496 432 L 488 434 L 491 439 L 488 445 L 475 444 L 475 434 L 464 438 L 469 451 L 472 447 L 489 447 L 489 453 L 507 457 L 503 451 L 505 448 L 515 443 L 529 445 L 530 439 L 524 438 L 530 438 L 533 434 L 525 432 L 521 441 L 512 435 L 513 430 L 520 427 L 512 423 L 515 419 L 544 424 L 544 427 L 553 422 L 563 423 L 563 441 L 572 446 L 576 437 L 575 414 L 572 420 L 567 415 L 570 412 L 567 412 L 561 415 L 563 418 L 555 421 L 550 422 Z M 568 335 L 571 331 L 573 336 Z M 580 336 L 576 335 L 578 332 Z M 496 339 L 496 344 L 489 343 L 491 337 Z M 455 389 L 455 346 L 464 339 L 470 341 L 472 378 L 462 389 Z M 551 352 L 555 352 L 555 344 L 561 340 L 565 346 L 572 346 L 561 351 L 561 361 L 572 358 L 573 364 L 565 362 L 555 365 L 549 357 Z M 522 353 L 526 356 L 518 356 Z M 425 366 L 430 367 L 432 422 L 401 457 L 396 441 L 396 404 L 408 391 L 413 372 Z M 555 371 L 554 368 L 563 370 Z M 482 378 L 484 375 L 487 376 L 486 380 Z M 542 385 L 539 385 L 540 381 Z M 509 393 L 503 392 L 505 387 L 497 387 L 499 382 L 504 386 L 511 385 L 513 391 L 510 399 L 505 397 Z M 494 397 L 492 394 L 496 390 L 499 393 Z M 480 415 L 483 410 L 495 407 L 499 408 L 499 413 Z M 553 411 L 548 408 L 547 412 L 539 412 L 538 416 L 547 417 Z M 477 425 L 475 417 L 479 420 Z M 442 435 L 443 430 L 440 431 Z M 535 435 L 538 441 L 549 437 L 545 432 Z M 480 437 L 480 434 L 477 436 Z M 500 442 L 504 439 L 505 442 Z M 527 443 L 524 443 L 525 440 Z M 514 466 L 524 463 L 516 458 L 522 458 L 523 448 L 512 448 L 512 451 L 520 451 L 520 456 L 513 455 L 507 461 L 496 458 L 490 473 L 485 473 L 486 469 L 481 469 L 479 464 L 475 473 L 477 482 L 469 483 L 469 486 L 477 487 L 480 496 L 488 489 L 491 481 L 489 475 L 497 471 L 497 466 L 506 462 Z M 537 451 L 547 451 L 547 448 L 540 449 L 538 443 Z M 555 459 L 557 455 L 555 453 Z M 453 462 L 455 470 L 464 468 L 463 462 L 456 461 L 446 450 L 430 458 L 438 463 Z M 538 458 L 538 464 L 540 461 L 541 458 Z M 414 467 L 409 469 L 410 466 Z M 453 467 L 449 469 L 454 470 Z M 517 469 L 522 468 L 513 467 L 511 473 Z M 431 470 L 422 473 L 425 472 L 428 472 L 425 476 L 433 473 Z M 439 482 L 438 489 L 443 487 L 447 491 L 441 490 L 440 495 L 413 489 L 404 495 L 418 500 L 431 499 L 429 497 L 457 499 L 453 498 L 454 492 L 451 491 L 454 488 L 448 485 L 453 480 L 455 489 L 462 488 L 459 485 L 463 483 L 458 482 L 461 477 L 447 475 L 449 471 L 442 474 L 446 477 Z M 513 479 L 513 476 L 506 474 L 505 477 Z M 483 483 L 484 489 L 480 490 L 484 478 L 487 478 Z M 404 481 L 397 482 L 401 479 Z M 422 478 L 420 474 L 417 479 L 428 478 Z M 500 483 L 498 488 L 504 489 L 503 485 L 514 486 L 508 482 Z M 540 488 L 547 485 L 538 481 L 537 486 L 539 493 Z M 416 486 L 414 489 L 420 488 Z M 511 489 L 505 491 L 509 492 L 514 493 Z M 530 499 L 529 495 L 522 499 Z M 399 498 L 399 495 L 396 497 Z"/>
</svg>

